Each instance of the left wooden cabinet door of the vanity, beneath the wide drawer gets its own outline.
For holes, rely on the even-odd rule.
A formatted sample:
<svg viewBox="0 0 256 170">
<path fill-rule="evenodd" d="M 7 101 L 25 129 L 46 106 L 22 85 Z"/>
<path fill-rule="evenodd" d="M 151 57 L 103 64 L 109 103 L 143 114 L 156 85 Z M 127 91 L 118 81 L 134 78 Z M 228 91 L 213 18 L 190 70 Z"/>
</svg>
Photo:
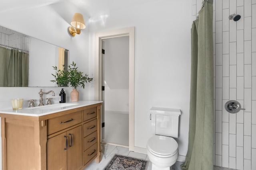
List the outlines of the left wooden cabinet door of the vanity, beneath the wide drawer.
<svg viewBox="0 0 256 170">
<path fill-rule="evenodd" d="M 67 133 L 47 140 L 47 170 L 67 170 Z"/>
</svg>

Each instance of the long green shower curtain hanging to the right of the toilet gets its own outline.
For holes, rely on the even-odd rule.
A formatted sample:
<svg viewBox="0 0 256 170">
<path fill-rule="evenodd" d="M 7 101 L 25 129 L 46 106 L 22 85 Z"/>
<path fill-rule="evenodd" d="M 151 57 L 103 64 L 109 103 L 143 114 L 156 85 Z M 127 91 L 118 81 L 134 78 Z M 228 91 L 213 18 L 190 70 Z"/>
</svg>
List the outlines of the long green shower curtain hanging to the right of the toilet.
<svg viewBox="0 0 256 170">
<path fill-rule="evenodd" d="M 191 28 L 188 152 L 182 170 L 213 170 L 213 0 L 204 0 Z"/>
</svg>

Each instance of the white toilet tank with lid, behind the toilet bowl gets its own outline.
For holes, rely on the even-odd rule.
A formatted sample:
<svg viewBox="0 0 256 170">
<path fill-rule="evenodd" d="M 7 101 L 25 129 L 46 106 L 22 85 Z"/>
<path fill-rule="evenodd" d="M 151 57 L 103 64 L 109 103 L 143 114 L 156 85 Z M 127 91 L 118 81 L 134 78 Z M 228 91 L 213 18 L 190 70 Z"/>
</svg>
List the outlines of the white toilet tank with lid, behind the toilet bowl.
<svg viewBox="0 0 256 170">
<path fill-rule="evenodd" d="M 178 137 L 180 109 L 152 107 L 150 109 L 151 133 Z"/>
</svg>

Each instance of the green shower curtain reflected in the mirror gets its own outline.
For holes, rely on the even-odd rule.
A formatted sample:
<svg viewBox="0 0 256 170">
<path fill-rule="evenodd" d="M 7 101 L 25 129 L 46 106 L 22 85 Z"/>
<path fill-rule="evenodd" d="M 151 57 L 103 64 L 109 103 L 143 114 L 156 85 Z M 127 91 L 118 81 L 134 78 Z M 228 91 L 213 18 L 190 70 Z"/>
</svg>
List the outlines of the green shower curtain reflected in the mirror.
<svg viewBox="0 0 256 170">
<path fill-rule="evenodd" d="M 27 87 L 28 64 L 28 53 L 0 47 L 0 87 Z"/>
</svg>

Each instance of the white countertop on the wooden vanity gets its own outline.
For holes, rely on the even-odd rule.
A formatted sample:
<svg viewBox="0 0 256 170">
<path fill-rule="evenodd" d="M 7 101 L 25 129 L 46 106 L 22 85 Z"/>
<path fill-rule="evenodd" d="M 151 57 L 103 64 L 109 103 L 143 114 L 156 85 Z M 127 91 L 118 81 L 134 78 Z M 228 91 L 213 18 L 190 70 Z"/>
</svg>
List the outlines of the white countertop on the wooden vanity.
<svg viewBox="0 0 256 170">
<path fill-rule="evenodd" d="M 89 106 L 89 105 L 99 104 L 99 103 L 102 103 L 102 101 L 86 100 L 86 101 L 78 101 L 78 102 L 66 102 L 62 104 L 56 103 L 56 104 L 45 105 L 45 106 L 23 107 L 21 110 L 12 110 L 12 108 L 4 109 L 4 110 L 0 110 L 0 113 L 26 115 L 26 116 L 42 116 L 42 115 L 48 115 L 51 113 L 56 113 L 59 111 L 65 111 L 69 109 L 75 109 L 78 107 Z"/>
</svg>

